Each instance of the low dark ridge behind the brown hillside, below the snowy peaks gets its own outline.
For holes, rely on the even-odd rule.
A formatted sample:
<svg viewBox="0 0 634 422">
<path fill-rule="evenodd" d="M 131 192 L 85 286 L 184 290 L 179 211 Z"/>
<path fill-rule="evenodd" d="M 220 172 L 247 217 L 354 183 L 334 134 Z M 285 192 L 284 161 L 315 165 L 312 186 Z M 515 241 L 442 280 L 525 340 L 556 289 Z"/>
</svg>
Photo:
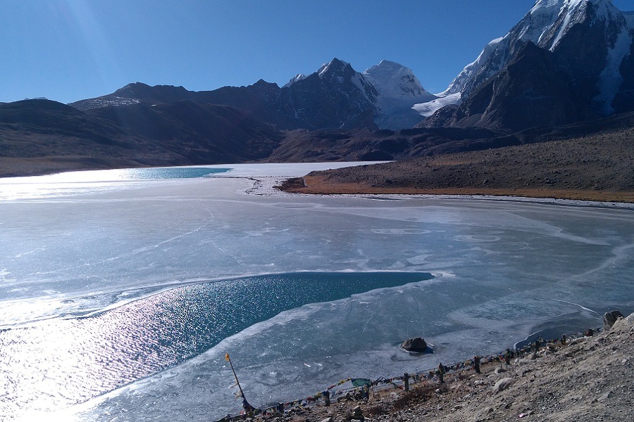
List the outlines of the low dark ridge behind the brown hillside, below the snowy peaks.
<svg viewBox="0 0 634 422">
<path fill-rule="evenodd" d="M 590 134 L 611 134 L 634 128 L 634 113 L 622 113 L 566 126 L 525 129 L 506 134 L 483 128 L 435 127 L 369 131 L 296 130 L 266 159 L 270 162 L 404 160 L 466 151 L 495 150 L 506 146 L 571 139 Z M 621 159 L 628 155 L 623 155 Z M 388 177 L 388 175 L 385 175 Z"/>
</svg>

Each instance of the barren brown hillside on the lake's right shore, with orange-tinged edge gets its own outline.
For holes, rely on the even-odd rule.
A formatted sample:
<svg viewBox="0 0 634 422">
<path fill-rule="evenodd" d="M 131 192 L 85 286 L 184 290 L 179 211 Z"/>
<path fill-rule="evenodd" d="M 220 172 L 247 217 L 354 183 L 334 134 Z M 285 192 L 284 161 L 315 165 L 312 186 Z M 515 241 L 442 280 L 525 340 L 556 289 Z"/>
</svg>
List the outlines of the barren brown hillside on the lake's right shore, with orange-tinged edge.
<svg viewBox="0 0 634 422">
<path fill-rule="evenodd" d="M 634 128 L 594 136 L 313 172 L 301 193 L 431 193 L 634 202 Z"/>
</svg>

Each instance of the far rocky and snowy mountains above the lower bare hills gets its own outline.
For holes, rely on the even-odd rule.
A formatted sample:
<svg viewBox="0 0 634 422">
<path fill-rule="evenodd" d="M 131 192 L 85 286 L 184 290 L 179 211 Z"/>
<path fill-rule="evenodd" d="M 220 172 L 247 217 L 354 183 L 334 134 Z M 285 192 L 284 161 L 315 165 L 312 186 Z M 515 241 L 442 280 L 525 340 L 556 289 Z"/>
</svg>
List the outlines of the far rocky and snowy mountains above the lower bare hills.
<svg viewBox="0 0 634 422">
<path fill-rule="evenodd" d="M 634 14 L 609 0 L 538 0 L 437 95 L 398 63 L 383 60 L 357 72 L 335 58 L 284 87 L 260 80 L 187 91 L 137 82 L 71 105 L 88 110 L 201 101 L 246 110 L 278 129 L 399 130 L 418 124 L 521 130 L 634 110 L 633 39 Z"/>
</svg>

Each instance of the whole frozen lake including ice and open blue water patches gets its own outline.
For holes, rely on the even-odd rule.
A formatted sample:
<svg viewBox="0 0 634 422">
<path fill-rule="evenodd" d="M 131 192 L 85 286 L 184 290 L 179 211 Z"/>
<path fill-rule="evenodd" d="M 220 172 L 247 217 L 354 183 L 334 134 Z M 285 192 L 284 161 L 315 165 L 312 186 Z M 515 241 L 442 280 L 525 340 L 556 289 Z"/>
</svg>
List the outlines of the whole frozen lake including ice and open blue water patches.
<svg viewBox="0 0 634 422">
<path fill-rule="evenodd" d="M 634 312 L 633 207 L 271 189 L 340 165 L 0 179 L 0 415 L 209 421 L 225 352 L 263 405 Z"/>
</svg>

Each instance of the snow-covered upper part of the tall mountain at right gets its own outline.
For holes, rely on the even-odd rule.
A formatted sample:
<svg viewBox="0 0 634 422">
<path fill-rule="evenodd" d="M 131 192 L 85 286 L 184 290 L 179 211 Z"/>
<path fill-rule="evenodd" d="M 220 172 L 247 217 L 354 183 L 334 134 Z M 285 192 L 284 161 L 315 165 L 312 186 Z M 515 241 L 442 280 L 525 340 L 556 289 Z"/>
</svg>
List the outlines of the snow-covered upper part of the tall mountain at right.
<svg viewBox="0 0 634 422">
<path fill-rule="evenodd" d="M 581 60 L 582 56 L 588 56 L 586 60 L 591 60 L 593 65 L 604 63 L 594 76 L 599 91 L 594 100 L 602 113 L 608 115 L 614 111 L 611 102 L 623 82 L 619 68 L 633 43 L 632 20 L 630 13 L 619 11 L 609 0 L 537 0 L 517 25 L 504 37 L 490 41 L 447 90 L 438 94 L 446 98 L 418 104 L 416 110 L 421 115 L 430 115 L 441 105 L 464 101 L 509 64 L 521 46 L 530 41 L 561 57 L 576 55 L 576 60 Z M 585 29 L 580 30 L 582 27 Z M 583 55 L 573 51 L 579 48 L 588 51 Z M 578 71 L 588 72 L 588 69 L 582 64 Z"/>
</svg>

